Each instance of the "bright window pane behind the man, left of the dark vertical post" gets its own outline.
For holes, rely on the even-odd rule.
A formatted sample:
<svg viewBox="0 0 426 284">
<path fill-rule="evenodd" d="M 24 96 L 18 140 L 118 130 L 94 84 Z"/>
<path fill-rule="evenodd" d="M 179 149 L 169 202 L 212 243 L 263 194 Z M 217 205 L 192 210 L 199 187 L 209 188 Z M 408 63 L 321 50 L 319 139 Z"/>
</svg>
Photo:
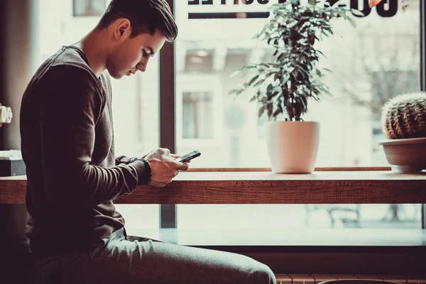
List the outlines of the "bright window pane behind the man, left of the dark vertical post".
<svg viewBox="0 0 426 284">
<path fill-rule="evenodd" d="M 104 1 L 105 7 L 109 1 Z M 102 8 L 102 1 L 40 0 L 40 61 L 62 45 L 70 45 L 89 33 L 100 19 L 90 11 Z M 73 3 L 77 14 L 73 16 Z M 92 10 L 89 9 L 92 5 Z M 81 9 L 89 9 L 84 15 Z M 55 11 L 55 13 L 52 13 Z M 104 11 L 102 11 L 103 13 Z M 102 14 L 101 13 L 101 14 Z M 141 156 L 159 145 L 158 82 L 159 60 L 150 60 L 147 72 L 121 80 L 111 78 L 113 89 L 114 138 L 116 155 Z M 128 228 L 158 228 L 158 205 L 117 204 Z"/>
</svg>

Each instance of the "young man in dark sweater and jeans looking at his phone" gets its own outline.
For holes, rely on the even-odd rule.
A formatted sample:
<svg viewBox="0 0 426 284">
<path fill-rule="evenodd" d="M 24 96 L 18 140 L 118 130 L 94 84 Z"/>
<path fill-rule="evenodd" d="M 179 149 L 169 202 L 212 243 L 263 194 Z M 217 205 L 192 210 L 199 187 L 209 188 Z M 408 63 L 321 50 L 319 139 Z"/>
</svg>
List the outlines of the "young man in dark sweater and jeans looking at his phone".
<svg viewBox="0 0 426 284">
<path fill-rule="evenodd" d="M 98 25 L 40 66 L 23 95 L 27 235 L 38 283 L 275 283 L 233 253 L 131 237 L 112 200 L 187 170 L 168 149 L 114 156 L 111 84 L 144 72 L 178 28 L 165 0 L 112 0 Z"/>
</svg>

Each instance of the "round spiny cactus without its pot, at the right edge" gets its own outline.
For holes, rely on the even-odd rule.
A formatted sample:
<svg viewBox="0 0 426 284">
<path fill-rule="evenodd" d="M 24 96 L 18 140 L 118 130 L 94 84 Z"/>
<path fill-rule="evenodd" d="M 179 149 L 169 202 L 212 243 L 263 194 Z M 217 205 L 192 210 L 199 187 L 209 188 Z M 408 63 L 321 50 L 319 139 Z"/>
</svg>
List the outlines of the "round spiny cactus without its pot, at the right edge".
<svg viewBox="0 0 426 284">
<path fill-rule="evenodd" d="M 426 137 L 426 92 L 400 94 L 386 102 L 382 130 L 388 139 Z"/>
</svg>

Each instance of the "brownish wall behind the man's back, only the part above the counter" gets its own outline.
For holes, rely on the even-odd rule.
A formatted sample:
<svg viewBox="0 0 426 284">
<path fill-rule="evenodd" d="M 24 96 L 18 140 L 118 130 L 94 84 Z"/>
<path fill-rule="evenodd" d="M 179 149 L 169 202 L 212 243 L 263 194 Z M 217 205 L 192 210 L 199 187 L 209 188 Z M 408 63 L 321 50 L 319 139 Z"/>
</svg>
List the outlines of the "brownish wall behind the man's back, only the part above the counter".
<svg viewBox="0 0 426 284">
<path fill-rule="evenodd" d="M 38 0 L 2 0 L 1 104 L 12 108 L 11 124 L 1 127 L 3 149 L 20 149 L 19 109 L 38 60 Z"/>
</svg>

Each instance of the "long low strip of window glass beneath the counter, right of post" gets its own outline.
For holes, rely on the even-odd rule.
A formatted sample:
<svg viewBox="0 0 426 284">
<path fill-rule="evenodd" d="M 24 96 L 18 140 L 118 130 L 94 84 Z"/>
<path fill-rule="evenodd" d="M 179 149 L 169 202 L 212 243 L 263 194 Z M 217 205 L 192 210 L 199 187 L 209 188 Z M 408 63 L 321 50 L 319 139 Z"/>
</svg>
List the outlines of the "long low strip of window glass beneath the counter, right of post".
<svg viewBox="0 0 426 284">
<path fill-rule="evenodd" d="M 180 229 L 420 229 L 420 204 L 179 205 Z"/>
</svg>

